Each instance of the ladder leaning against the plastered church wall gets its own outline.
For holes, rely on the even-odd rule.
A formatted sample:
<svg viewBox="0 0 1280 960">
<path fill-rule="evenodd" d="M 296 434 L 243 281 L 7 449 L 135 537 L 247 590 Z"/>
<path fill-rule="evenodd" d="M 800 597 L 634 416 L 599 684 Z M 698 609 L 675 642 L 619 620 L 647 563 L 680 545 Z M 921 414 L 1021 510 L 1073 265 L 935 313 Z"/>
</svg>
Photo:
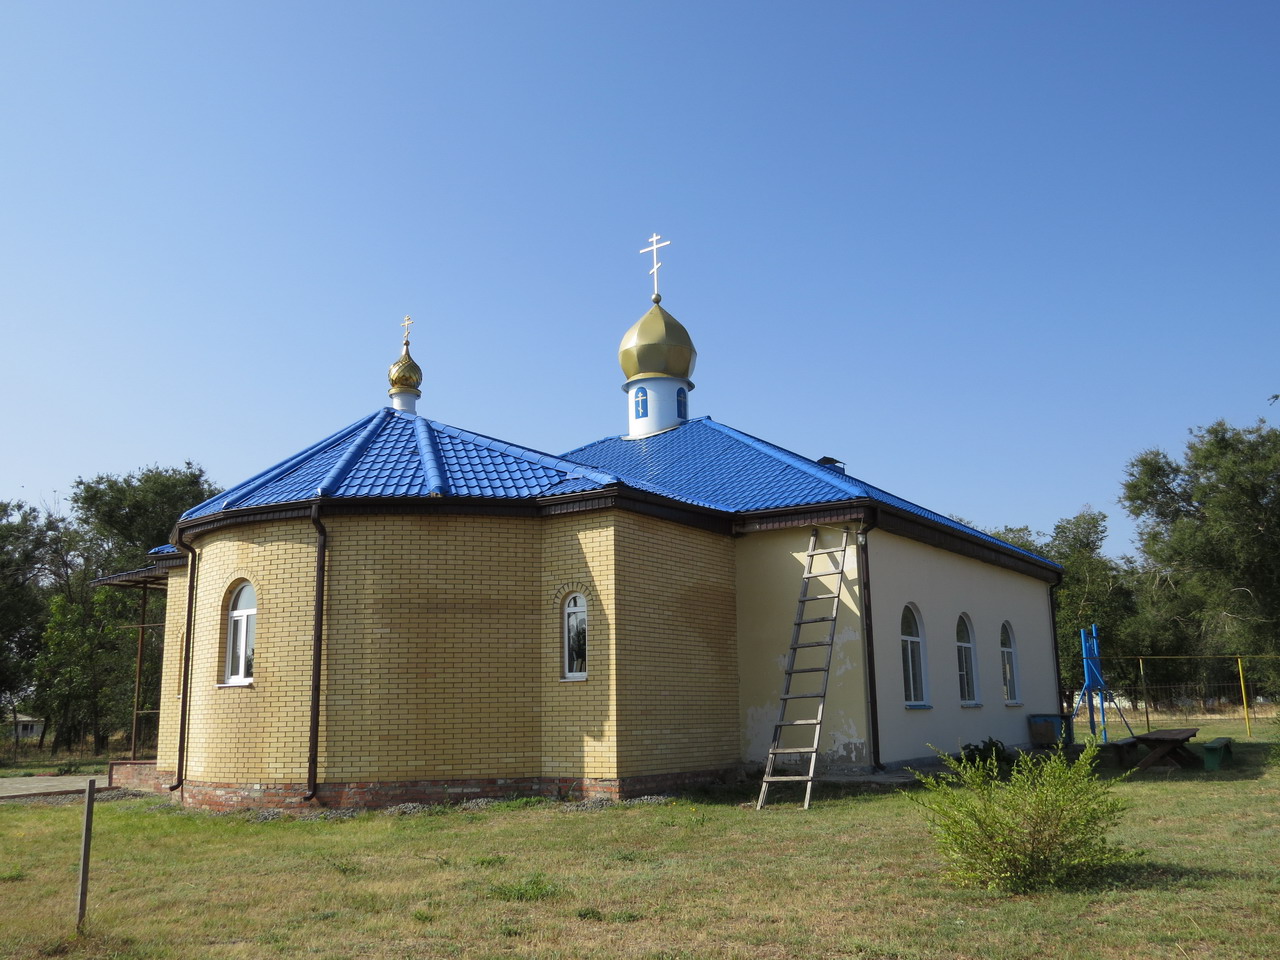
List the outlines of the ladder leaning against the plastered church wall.
<svg viewBox="0 0 1280 960">
<path fill-rule="evenodd" d="M 822 737 L 822 712 L 827 701 L 827 677 L 831 673 L 831 654 L 836 640 L 836 614 L 840 613 L 840 591 L 844 585 L 847 553 L 849 527 L 844 529 L 840 547 L 819 548 L 818 527 L 814 527 L 809 534 L 809 549 L 805 552 L 804 575 L 800 579 L 800 599 L 796 602 L 796 618 L 791 627 L 791 649 L 787 653 L 786 677 L 782 681 L 782 696 L 778 700 L 778 722 L 773 724 L 773 741 L 764 764 L 760 797 L 755 801 L 756 810 L 764 806 L 764 801 L 769 796 L 769 783 L 788 782 L 805 785 L 804 809 L 809 809 L 814 769 L 818 764 L 818 740 Z M 819 557 L 829 558 L 820 564 L 829 568 L 814 570 L 814 559 Z M 809 593 L 810 584 L 815 584 L 818 593 Z M 814 612 L 809 609 L 809 604 L 820 600 L 831 602 L 829 614 L 814 616 Z M 797 666 L 797 663 L 804 666 Z M 792 681 L 797 676 L 812 677 L 808 682 L 800 681 L 797 684 L 803 692 L 791 689 Z M 806 689 L 814 686 L 817 686 L 815 690 Z M 812 727 L 813 740 L 806 744 L 794 744 L 795 735 L 788 737 L 787 731 L 797 727 Z M 796 730 L 796 733 L 800 732 Z M 808 756 L 809 772 L 774 773 L 774 764 L 780 756 L 785 758 L 783 763 L 787 759 L 804 760 Z"/>
</svg>

